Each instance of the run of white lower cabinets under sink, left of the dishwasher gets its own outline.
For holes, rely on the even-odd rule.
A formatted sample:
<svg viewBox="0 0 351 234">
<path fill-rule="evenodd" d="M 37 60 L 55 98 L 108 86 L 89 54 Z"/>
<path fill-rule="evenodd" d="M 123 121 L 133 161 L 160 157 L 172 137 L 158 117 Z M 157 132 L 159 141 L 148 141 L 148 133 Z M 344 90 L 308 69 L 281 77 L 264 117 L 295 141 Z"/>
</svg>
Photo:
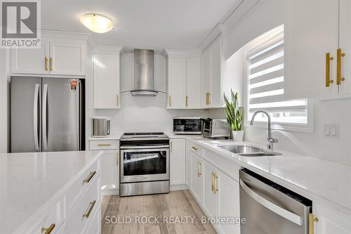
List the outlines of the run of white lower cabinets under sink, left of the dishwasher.
<svg viewBox="0 0 351 234">
<path fill-rule="evenodd" d="M 191 164 L 190 191 L 194 199 L 208 218 L 220 218 L 220 222 L 212 223 L 218 233 L 239 234 L 240 223 L 235 223 L 240 217 L 239 182 L 203 158 L 204 152 L 200 145 L 192 142 L 188 145 L 192 147 L 187 153 Z M 237 164 L 231 163 L 227 166 L 234 170 L 240 169 Z"/>
</svg>

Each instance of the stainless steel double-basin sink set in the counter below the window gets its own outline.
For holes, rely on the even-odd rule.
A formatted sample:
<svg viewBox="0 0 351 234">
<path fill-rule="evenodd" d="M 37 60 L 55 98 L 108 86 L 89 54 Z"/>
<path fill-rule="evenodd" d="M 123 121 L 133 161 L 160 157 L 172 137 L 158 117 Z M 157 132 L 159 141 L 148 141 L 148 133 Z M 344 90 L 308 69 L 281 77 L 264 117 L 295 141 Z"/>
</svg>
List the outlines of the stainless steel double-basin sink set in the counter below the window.
<svg viewBox="0 0 351 234">
<path fill-rule="evenodd" d="M 224 150 L 228 150 L 240 156 L 246 156 L 246 157 L 263 157 L 263 156 L 282 155 L 282 154 L 279 154 L 278 152 L 265 151 L 263 149 L 249 146 L 249 145 L 217 145 L 217 147 L 223 148 Z"/>
</svg>

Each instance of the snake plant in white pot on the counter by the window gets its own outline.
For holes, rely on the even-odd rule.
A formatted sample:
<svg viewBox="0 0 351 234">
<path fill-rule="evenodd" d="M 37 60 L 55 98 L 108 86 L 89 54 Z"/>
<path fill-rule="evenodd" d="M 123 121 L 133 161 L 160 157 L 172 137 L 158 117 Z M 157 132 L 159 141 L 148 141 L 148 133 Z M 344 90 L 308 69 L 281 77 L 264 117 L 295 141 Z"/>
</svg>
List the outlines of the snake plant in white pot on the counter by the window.
<svg viewBox="0 0 351 234">
<path fill-rule="evenodd" d="M 225 115 L 227 116 L 227 122 L 232 130 L 232 136 L 234 141 L 244 140 L 244 130 L 242 129 L 242 122 L 244 120 L 244 109 L 239 107 L 238 93 L 233 93 L 230 90 L 232 100 L 229 101 L 224 94 L 225 100 Z"/>
</svg>

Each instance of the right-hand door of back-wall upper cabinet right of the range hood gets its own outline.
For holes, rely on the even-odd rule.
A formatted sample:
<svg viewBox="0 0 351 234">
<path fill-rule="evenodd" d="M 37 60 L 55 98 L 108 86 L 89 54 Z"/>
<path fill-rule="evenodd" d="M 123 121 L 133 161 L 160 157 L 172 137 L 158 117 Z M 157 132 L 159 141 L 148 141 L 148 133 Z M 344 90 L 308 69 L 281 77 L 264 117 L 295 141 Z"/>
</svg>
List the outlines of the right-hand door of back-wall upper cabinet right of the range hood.
<svg viewBox="0 0 351 234">
<path fill-rule="evenodd" d="M 187 58 L 187 108 L 201 108 L 201 57 Z"/>
</svg>

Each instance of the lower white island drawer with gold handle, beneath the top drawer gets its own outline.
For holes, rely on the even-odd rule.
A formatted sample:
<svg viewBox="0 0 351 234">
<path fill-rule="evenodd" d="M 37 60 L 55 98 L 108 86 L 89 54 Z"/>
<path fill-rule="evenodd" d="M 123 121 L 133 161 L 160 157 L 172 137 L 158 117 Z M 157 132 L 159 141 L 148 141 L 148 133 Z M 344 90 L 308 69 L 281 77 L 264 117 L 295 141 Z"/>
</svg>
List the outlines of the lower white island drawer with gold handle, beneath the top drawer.
<svg viewBox="0 0 351 234">
<path fill-rule="evenodd" d="M 83 230 L 93 221 L 93 216 L 100 207 L 100 201 L 100 173 L 98 173 L 88 190 L 75 202 L 72 212 L 67 215 L 66 232 L 83 233 Z"/>
</svg>

